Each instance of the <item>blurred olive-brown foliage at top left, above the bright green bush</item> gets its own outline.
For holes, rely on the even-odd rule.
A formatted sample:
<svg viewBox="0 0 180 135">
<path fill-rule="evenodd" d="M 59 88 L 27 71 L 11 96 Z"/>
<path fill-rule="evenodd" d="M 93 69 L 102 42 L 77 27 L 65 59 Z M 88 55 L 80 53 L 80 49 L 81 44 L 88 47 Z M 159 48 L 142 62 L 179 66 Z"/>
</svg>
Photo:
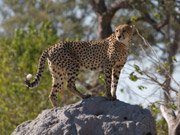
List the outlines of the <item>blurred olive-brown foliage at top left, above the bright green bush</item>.
<svg viewBox="0 0 180 135">
<path fill-rule="evenodd" d="M 86 11 L 89 9 L 86 1 L 25 0 L 22 2 L 2 0 L 1 3 L 0 15 L 3 17 L 3 33 L 6 36 L 13 36 L 14 29 L 26 28 L 32 20 L 35 24 L 53 22 L 53 27 L 58 30 L 58 34 L 63 33 L 61 35 L 63 39 L 67 37 L 75 39 L 77 33 L 85 34 L 85 29 L 89 26 L 89 24 L 83 24 L 84 18 L 89 15 L 89 12 Z M 1 13 L 7 9 L 8 12 Z"/>
</svg>

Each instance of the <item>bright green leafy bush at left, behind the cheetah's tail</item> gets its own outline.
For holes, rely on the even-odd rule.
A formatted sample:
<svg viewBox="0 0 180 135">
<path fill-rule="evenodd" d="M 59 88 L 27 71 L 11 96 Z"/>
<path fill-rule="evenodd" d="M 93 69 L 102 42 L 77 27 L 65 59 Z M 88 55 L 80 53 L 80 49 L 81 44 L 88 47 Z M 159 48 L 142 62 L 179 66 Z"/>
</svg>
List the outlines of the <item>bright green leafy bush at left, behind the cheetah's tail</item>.
<svg viewBox="0 0 180 135">
<path fill-rule="evenodd" d="M 0 39 L 0 134 L 11 134 L 16 126 L 34 119 L 40 111 L 51 107 L 48 94 L 51 76 L 45 70 L 38 88 L 28 89 L 24 78 L 35 75 L 42 51 L 58 41 L 50 22 L 18 29 L 12 40 Z"/>
</svg>

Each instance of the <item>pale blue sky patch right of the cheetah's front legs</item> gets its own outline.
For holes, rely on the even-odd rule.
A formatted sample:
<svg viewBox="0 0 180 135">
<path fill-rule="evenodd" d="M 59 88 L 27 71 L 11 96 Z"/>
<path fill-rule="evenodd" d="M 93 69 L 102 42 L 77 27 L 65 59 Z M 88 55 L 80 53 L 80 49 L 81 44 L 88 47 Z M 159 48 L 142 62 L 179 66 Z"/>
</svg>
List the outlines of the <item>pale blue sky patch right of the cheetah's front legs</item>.
<svg viewBox="0 0 180 135">
<path fill-rule="evenodd" d="M 138 46 L 137 46 L 138 47 Z M 161 52 L 156 52 L 159 55 Z M 161 54 L 162 55 L 162 54 Z M 174 79 L 177 81 L 177 83 L 180 82 L 180 55 L 176 56 L 177 62 L 175 62 L 175 69 L 173 73 Z M 144 57 L 144 61 L 146 61 L 146 58 Z M 140 67 L 141 69 L 150 69 L 151 70 L 151 62 L 144 62 L 144 67 Z M 154 102 L 160 102 L 163 103 L 163 91 L 160 87 L 157 87 L 155 84 L 150 84 L 146 81 L 137 80 L 136 82 L 133 82 L 129 79 L 129 74 L 134 70 L 133 65 L 142 65 L 140 64 L 138 60 L 131 60 L 127 61 L 124 68 L 122 69 L 122 73 L 120 75 L 119 84 L 117 88 L 117 97 L 119 100 L 128 102 L 131 104 L 141 104 L 144 107 L 147 107 L 148 104 L 154 103 Z M 154 72 L 154 74 L 157 75 L 157 73 Z M 143 76 L 142 76 L 143 77 Z M 145 77 L 145 76 L 144 76 Z M 158 76 L 159 79 L 161 79 L 163 82 L 164 78 L 161 76 Z M 129 88 L 126 88 L 128 85 Z M 143 90 L 139 90 L 138 86 L 143 85 L 146 88 Z M 171 87 L 173 87 L 175 90 L 179 90 L 179 86 L 175 84 L 173 81 L 171 82 Z M 125 88 L 125 90 L 122 92 L 121 89 Z M 175 92 L 171 92 L 172 97 L 175 98 Z"/>
</svg>

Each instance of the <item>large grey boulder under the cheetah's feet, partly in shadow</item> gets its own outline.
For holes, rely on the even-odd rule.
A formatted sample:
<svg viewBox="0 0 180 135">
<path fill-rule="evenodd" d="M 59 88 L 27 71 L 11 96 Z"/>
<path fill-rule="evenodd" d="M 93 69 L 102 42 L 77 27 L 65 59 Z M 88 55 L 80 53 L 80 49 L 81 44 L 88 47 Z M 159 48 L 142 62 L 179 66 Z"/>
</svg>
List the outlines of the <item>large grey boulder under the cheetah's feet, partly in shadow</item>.
<svg viewBox="0 0 180 135">
<path fill-rule="evenodd" d="M 20 124 L 12 135 L 155 135 L 147 109 L 105 97 L 42 111 Z"/>
</svg>

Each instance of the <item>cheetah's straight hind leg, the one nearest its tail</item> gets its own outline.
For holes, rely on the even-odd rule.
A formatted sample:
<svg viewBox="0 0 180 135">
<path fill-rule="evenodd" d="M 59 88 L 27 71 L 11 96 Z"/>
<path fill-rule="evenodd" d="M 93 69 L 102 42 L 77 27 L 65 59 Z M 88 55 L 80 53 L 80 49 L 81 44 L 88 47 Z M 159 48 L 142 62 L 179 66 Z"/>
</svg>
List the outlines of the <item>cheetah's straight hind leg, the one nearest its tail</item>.
<svg viewBox="0 0 180 135">
<path fill-rule="evenodd" d="M 52 89 L 49 95 L 49 99 L 53 107 L 57 107 L 58 92 L 63 88 L 65 81 L 65 71 L 62 69 L 52 69 Z"/>
</svg>

